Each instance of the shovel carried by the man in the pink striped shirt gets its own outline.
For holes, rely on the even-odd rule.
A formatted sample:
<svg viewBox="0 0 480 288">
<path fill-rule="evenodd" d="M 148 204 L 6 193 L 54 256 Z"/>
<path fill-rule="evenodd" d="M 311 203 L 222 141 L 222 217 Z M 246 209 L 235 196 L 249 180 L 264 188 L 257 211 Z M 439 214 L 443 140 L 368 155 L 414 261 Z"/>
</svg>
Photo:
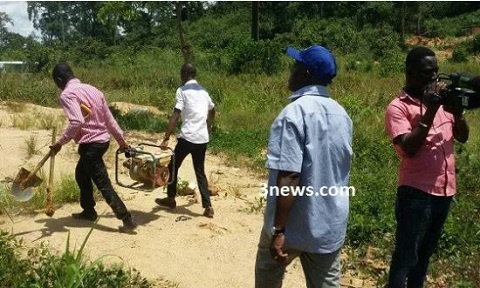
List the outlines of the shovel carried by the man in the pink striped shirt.
<svg viewBox="0 0 480 288">
<path fill-rule="evenodd" d="M 37 187 L 42 183 L 42 179 L 40 179 L 35 173 L 42 168 L 43 164 L 47 162 L 48 158 L 52 156 L 54 153 L 52 150 L 49 150 L 48 153 L 43 156 L 42 160 L 33 168 L 33 171 L 30 172 L 25 168 L 20 168 L 20 171 L 17 174 L 17 177 L 15 177 L 15 180 L 13 181 L 12 185 L 12 196 L 15 198 L 15 200 L 20 201 L 20 202 L 26 202 L 30 199 L 32 199 L 33 195 L 35 194 L 35 191 L 33 187 Z"/>
</svg>

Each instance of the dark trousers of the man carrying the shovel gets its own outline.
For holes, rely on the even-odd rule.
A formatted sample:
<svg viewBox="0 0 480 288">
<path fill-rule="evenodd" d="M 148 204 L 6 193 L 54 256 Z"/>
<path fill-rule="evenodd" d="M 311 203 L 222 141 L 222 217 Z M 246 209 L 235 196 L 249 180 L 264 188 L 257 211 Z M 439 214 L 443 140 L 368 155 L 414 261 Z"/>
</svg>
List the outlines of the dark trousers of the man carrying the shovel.
<svg viewBox="0 0 480 288">
<path fill-rule="evenodd" d="M 107 152 L 109 142 L 106 143 L 87 143 L 78 146 L 78 160 L 75 168 L 75 179 L 80 187 L 80 206 L 87 212 L 95 210 L 95 200 L 93 199 L 93 183 L 112 208 L 113 213 L 118 219 L 130 217 L 127 207 L 122 199 L 118 197 L 113 189 L 112 182 L 108 178 L 107 168 L 103 162 L 103 155 Z"/>
</svg>

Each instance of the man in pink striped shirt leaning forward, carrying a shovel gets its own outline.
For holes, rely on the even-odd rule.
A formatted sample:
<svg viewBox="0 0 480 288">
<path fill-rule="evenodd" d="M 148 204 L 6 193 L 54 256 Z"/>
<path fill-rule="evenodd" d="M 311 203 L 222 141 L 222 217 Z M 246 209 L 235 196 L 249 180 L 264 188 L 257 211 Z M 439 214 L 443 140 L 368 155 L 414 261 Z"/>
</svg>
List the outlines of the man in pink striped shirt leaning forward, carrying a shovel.
<svg viewBox="0 0 480 288">
<path fill-rule="evenodd" d="M 62 145 L 72 139 L 79 144 L 80 159 L 75 168 L 75 179 L 80 187 L 80 206 L 83 211 L 73 214 L 73 218 L 88 221 L 97 219 L 93 181 L 115 216 L 123 221 L 120 230 L 134 230 L 137 223 L 113 189 L 103 162 L 103 155 L 107 152 L 110 143 L 110 133 L 120 145 L 120 149 L 128 148 L 123 131 L 113 118 L 103 93 L 75 78 L 67 64 L 56 65 L 52 76 L 55 84 L 62 90 L 59 100 L 69 125 L 57 143 L 50 148 L 56 154 Z"/>
</svg>

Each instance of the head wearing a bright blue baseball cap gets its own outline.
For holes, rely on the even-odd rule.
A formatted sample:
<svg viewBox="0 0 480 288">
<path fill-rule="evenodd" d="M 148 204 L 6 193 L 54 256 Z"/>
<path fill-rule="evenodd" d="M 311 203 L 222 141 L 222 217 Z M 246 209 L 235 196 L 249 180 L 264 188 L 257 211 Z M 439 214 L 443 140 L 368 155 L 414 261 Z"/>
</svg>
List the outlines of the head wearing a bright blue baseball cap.
<svg viewBox="0 0 480 288">
<path fill-rule="evenodd" d="M 287 54 L 296 60 L 288 80 L 290 91 L 308 85 L 327 86 L 337 75 L 335 56 L 322 46 L 313 45 L 304 50 L 289 47 Z"/>
</svg>

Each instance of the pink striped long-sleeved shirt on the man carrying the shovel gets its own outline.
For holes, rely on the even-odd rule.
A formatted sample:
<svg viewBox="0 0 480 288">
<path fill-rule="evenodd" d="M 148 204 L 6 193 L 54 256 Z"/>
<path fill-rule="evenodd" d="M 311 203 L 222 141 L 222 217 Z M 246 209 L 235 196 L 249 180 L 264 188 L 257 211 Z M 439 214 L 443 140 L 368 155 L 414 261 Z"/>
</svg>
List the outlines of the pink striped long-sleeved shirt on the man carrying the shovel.
<svg viewBox="0 0 480 288">
<path fill-rule="evenodd" d="M 59 99 L 69 124 L 58 143 L 64 145 L 71 139 L 77 144 L 105 143 L 111 133 L 120 146 L 126 145 L 123 131 L 100 90 L 74 78 L 68 81 Z"/>
</svg>

